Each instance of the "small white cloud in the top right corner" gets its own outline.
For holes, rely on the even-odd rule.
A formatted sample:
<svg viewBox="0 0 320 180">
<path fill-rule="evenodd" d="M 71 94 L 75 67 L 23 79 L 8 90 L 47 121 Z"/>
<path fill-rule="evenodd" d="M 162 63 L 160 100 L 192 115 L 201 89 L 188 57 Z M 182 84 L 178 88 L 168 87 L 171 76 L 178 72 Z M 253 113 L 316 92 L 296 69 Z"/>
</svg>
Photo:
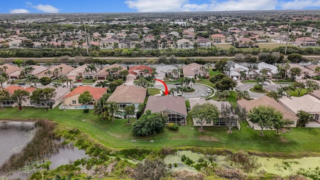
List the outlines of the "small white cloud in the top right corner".
<svg viewBox="0 0 320 180">
<path fill-rule="evenodd" d="M 290 0 L 280 2 L 281 9 L 303 9 L 306 7 L 319 7 L 320 0 Z"/>
</svg>

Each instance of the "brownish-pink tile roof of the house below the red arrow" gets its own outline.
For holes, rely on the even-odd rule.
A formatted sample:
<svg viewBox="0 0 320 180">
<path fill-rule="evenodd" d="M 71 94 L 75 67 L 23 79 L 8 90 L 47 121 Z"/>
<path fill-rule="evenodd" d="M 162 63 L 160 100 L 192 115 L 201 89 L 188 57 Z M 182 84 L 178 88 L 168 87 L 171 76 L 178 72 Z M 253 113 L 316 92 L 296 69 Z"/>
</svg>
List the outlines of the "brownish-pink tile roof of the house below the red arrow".
<svg viewBox="0 0 320 180">
<path fill-rule="evenodd" d="M 181 113 L 185 116 L 187 115 L 185 100 L 182 96 L 149 95 L 145 106 L 145 110 L 148 109 L 150 109 L 151 112 L 159 112 L 165 109 L 169 109 Z"/>
</svg>

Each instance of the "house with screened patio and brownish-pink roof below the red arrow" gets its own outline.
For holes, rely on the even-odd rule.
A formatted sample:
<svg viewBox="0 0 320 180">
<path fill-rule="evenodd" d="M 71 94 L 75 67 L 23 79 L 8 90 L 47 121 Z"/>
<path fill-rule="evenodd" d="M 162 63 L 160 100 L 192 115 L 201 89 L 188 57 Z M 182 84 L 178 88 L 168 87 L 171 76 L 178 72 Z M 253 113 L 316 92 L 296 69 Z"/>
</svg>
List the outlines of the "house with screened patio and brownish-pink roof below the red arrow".
<svg viewBox="0 0 320 180">
<path fill-rule="evenodd" d="M 186 125 L 187 111 L 182 96 L 149 95 L 144 111 L 160 112 L 167 116 L 166 123 L 174 122 Z"/>
</svg>

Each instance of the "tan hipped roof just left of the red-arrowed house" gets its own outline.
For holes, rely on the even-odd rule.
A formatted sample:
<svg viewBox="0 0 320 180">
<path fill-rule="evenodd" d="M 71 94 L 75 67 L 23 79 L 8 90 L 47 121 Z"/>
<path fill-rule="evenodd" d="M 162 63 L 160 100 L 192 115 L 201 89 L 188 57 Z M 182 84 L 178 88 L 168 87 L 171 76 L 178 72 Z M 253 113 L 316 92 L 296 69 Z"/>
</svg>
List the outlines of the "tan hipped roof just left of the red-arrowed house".
<svg viewBox="0 0 320 180">
<path fill-rule="evenodd" d="M 121 84 L 116 87 L 107 101 L 115 101 L 117 103 L 143 103 L 145 95 L 146 88 L 144 87 Z"/>
</svg>

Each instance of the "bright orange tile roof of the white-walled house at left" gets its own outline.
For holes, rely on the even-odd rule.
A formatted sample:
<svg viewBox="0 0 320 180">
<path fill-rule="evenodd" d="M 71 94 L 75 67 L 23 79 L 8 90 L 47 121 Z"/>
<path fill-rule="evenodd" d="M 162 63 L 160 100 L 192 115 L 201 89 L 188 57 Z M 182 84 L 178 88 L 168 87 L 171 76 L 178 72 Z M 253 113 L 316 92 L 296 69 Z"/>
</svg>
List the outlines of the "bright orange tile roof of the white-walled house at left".
<svg viewBox="0 0 320 180">
<path fill-rule="evenodd" d="M 91 87 L 89 85 L 75 87 L 70 93 L 66 94 L 64 97 L 71 97 L 75 94 L 83 93 L 84 91 L 89 91 L 94 99 L 99 99 L 105 92 L 107 88 L 103 87 Z"/>
</svg>

